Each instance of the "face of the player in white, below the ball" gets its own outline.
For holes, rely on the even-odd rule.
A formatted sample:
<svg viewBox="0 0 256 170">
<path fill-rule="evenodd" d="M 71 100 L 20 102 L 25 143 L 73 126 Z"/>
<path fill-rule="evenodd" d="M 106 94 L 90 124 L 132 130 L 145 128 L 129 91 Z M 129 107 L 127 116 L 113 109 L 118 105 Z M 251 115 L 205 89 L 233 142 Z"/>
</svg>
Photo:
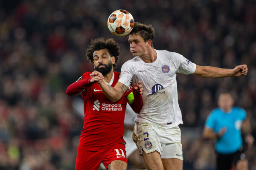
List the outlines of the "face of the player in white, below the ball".
<svg viewBox="0 0 256 170">
<path fill-rule="evenodd" d="M 136 56 L 143 56 L 146 54 L 150 44 L 144 42 L 143 38 L 139 34 L 129 35 L 128 42 L 130 43 L 131 54 Z"/>
</svg>

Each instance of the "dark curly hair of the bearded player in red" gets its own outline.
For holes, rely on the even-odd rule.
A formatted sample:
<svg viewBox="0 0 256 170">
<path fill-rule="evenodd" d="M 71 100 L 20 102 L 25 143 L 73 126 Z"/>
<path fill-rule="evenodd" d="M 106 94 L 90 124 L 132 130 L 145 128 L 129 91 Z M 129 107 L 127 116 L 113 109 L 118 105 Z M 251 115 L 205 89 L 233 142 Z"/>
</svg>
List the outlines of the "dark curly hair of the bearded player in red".
<svg viewBox="0 0 256 170">
<path fill-rule="evenodd" d="M 116 59 L 115 64 L 113 64 L 113 68 L 116 67 L 120 51 L 118 43 L 113 38 L 109 38 L 106 40 L 104 38 L 96 38 L 94 40 L 91 40 L 90 44 L 91 45 L 89 45 L 89 47 L 86 50 L 86 57 L 88 60 L 90 60 L 93 63 L 93 52 L 107 48 L 110 56 L 114 56 Z"/>
</svg>

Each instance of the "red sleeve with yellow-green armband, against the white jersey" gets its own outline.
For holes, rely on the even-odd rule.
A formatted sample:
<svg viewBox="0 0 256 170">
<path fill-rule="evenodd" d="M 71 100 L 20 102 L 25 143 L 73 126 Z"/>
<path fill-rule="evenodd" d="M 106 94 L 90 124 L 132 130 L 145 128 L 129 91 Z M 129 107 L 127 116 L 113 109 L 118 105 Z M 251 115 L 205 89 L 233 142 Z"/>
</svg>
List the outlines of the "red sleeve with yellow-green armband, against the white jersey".
<svg viewBox="0 0 256 170">
<path fill-rule="evenodd" d="M 134 85 L 134 87 L 136 87 L 136 85 Z M 129 93 L 127 96 L 127 102 L 135 113 L 140 113 L 143 105 L 143 100 L 140 92 L 135 90 L 134 87 L 131 89 L 131 93 Z"/>
</svg>

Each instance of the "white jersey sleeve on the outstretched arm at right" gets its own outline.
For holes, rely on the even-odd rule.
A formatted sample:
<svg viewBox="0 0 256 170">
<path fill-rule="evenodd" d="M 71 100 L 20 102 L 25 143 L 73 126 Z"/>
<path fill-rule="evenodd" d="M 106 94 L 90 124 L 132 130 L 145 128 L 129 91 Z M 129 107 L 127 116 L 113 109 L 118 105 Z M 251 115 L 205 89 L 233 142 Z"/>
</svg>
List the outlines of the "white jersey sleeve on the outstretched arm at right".
<svg viewBox="0 0 256 170">
<path fill-rule="evenodd" d="M 195 72 L 196 64 L 178 53 L 174 54 L 173 62 L 177 68 L 177 73 L 193 74 Z"/>
</svg>

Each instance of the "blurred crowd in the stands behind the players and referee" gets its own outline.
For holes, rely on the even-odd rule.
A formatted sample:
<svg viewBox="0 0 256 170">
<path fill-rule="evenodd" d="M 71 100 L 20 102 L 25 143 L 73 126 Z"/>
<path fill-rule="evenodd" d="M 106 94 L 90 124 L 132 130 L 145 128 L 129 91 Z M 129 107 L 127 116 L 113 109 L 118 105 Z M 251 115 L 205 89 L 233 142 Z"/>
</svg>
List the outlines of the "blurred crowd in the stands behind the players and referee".
<svg viewBox="0 0 256 170">
<path fill-rule="evenodd" d="M 256 138 L 255 0 L 0 0 L 0 170 L 74 169 L 83 119 L 65 91 L 93 71 L 85 57 L 92 38 L 119 42 L 115 71 L 132 58 L 127 40 L 107 27 L 116 9 L 152 24 L 155 49 L 203 66 L 248 65 L 245 77 L 177 74 L 184 170 L 215 170 L 214 143 L 201 133 L 220 91 L 247 111 Z M 254 144 L 250 170 L 255 153 Z"/>
</svg>

